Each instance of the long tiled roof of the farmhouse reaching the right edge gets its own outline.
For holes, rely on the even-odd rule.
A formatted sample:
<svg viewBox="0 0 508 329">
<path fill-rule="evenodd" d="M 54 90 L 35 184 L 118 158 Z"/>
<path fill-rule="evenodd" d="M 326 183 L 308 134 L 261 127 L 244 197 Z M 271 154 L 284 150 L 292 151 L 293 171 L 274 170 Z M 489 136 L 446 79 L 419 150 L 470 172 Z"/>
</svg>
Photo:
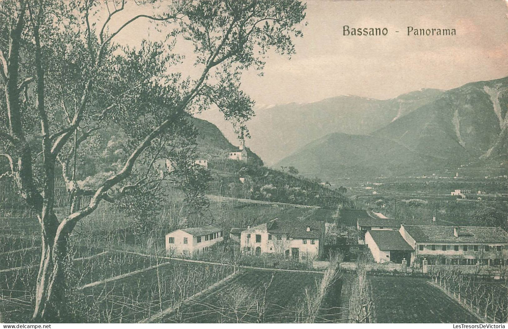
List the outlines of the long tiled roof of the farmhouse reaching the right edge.
<svg viewBox="0 0 508 329">
<path fill-rule="evenodd" d="M 416 242 L 508 243 L 508 233 L 501 227 L 460 226 L 459 236 L 453 226 L 404 225 Z"/>
</svg>

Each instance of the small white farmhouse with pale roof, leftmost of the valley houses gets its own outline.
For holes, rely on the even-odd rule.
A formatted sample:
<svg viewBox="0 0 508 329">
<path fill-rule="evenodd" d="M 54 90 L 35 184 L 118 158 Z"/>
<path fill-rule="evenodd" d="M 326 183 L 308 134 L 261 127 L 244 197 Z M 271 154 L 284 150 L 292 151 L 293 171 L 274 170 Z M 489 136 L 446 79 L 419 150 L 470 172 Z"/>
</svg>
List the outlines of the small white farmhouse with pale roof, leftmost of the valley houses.
<svg viewBox="0 0 508 329">
<path fill-rule="evenodd" d="M 212 224 L 180 228 L 166 235 L 166 252 L 177 256 L 199 254 L 223 241 L 223 235 L 223 229 Z"/>
</svg>

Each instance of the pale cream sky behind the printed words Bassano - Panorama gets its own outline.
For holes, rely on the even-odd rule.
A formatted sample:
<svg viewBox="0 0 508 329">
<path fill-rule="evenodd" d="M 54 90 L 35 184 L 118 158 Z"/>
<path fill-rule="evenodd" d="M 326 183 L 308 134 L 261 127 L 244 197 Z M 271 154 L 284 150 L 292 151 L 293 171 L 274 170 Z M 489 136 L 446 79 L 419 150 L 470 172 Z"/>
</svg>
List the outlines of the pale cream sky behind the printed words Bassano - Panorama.
<svg viewBox="0 0 508 329">
<path fill-rule="evenodd" d="M 271 53 L 264 75 L 245 72 L 242 88 L 261 110 L 347 94 L 383 100 L 422 88 L 447 90 L 502 78 L 508 76 L 507 1 L 309 0 L 303 38 L 295 40 L 296 54 L 290 60 Z M 386 27 L 389 32 L 343 36 L 343 25 Z M 157 32 L 148 26 L 136 22 L 117 41 L 156 39 Z M 407 26 L 455 28 L 456 35 L 407 36 Z M 236 139 L 217 110 L 200 117 L 221 127 L 231 141 Z"/>
</svg>

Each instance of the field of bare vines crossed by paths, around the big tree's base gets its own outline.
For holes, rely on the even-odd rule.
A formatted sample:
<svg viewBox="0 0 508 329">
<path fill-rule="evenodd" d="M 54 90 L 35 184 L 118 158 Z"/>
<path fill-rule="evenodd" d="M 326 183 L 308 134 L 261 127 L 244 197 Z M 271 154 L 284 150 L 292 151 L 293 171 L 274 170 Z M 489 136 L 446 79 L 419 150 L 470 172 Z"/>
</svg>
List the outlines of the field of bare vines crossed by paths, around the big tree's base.
<svg viewBox="0 0 508 329">
<path fill-rule="evenodd" d="M 38 252 L 9 252 L 16 257 L 2 261 L 0 315 L 5 322 L 29 320 L 39 270 Z M 67 274 L 69 309 L 77 322 L 137 322 L 233 272 L 228 266 L 107 250 L 81 250 L 78 255 Z"/>
</svg>

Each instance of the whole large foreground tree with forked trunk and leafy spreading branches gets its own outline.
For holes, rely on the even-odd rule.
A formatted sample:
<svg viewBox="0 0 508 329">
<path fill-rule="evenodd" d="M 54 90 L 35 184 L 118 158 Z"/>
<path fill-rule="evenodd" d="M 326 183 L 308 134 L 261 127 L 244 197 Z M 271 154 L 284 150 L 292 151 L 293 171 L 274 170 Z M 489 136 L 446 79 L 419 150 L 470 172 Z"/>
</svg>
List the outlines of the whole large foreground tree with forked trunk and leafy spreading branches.
<svg viewBox="0 0 508 329">
<path fill-rule="evenodd" d="M 41 226 L 35 321 L 67 319 L 63 260 L 76 224 L 102 201 L 142 198 L 161 180 L 199 187 L 189 115 L 214 106 L 243 126 L 253 101 L 241 73 L 262 70 L 270 48 L 293 54 L 305 17 L 296 0 L 153 3 L 0 3 L 0 176 Z M 161 41 L 119 45 L 138 21 Z M 174 161 L 171 177 L 154 170 L 161 158 Z M 64 215 L 54 209 L 57 177 L 71 200 Z M 199 188 L 186 192 L 203 202 Z"/>
</svg>

